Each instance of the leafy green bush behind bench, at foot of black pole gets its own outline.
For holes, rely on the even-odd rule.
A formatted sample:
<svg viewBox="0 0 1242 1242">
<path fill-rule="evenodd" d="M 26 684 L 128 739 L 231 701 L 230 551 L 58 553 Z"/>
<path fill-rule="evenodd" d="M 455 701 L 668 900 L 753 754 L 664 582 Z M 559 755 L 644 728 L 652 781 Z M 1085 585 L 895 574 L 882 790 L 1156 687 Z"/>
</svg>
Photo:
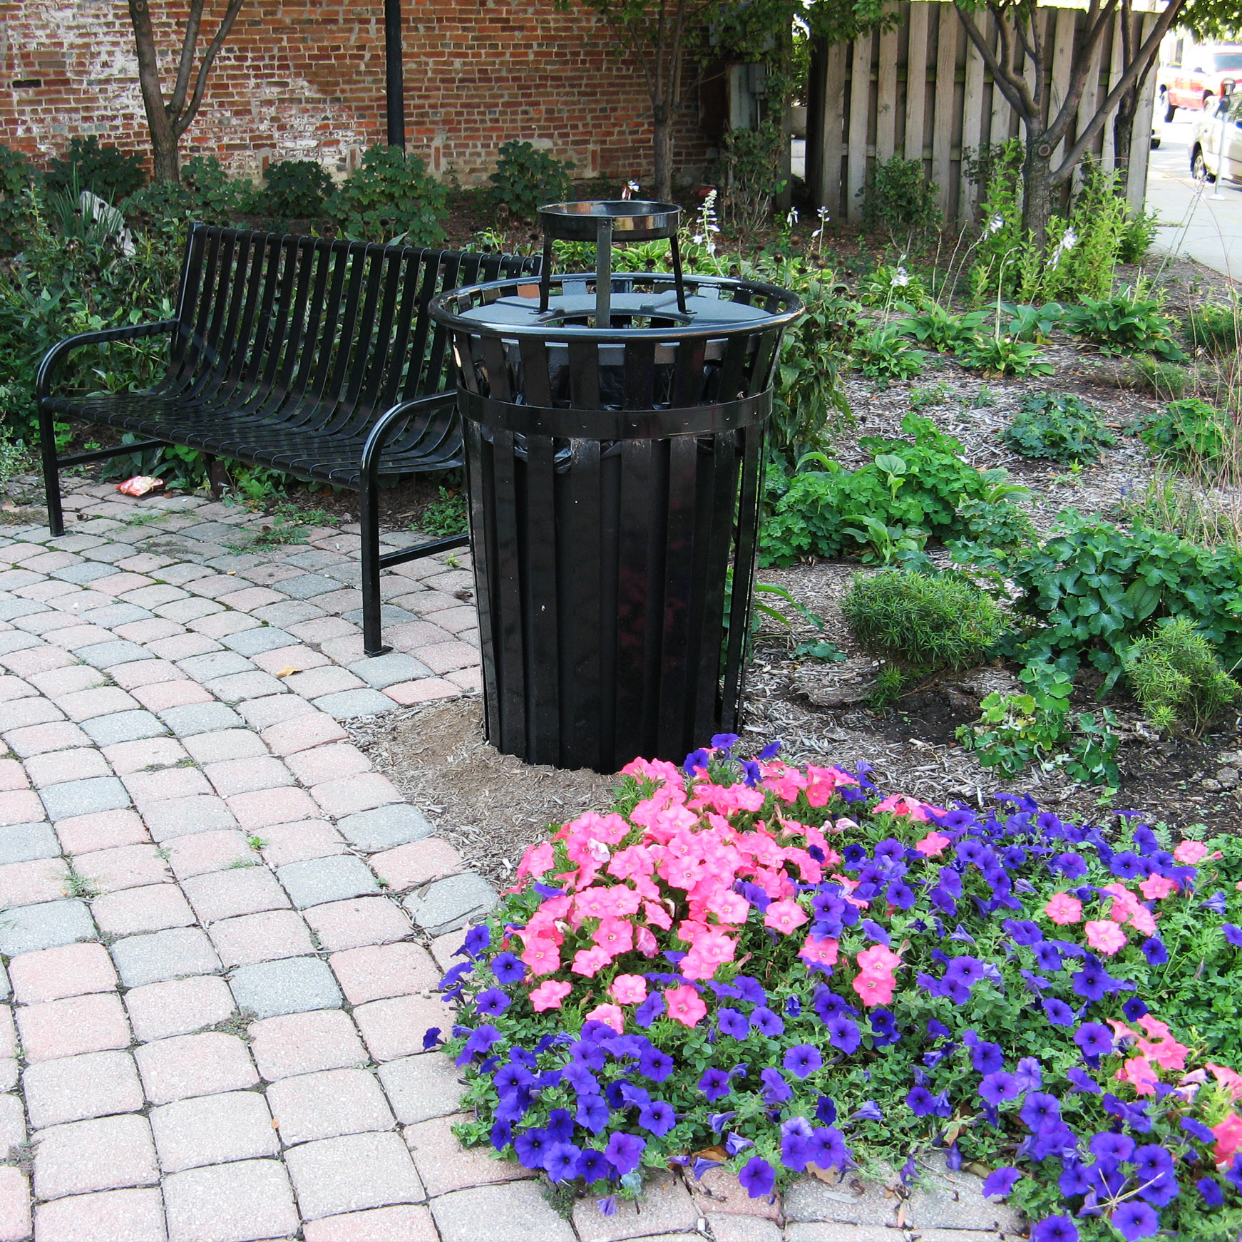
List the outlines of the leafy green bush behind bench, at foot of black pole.
<svg viewBox="0 0 1242 1242">
<path fill-rule="evenodd" d="M 448 217 L 448 188 L 428 176 L 417 155 L 371 147 L 328 202 L 327 215 L 347 237 L 440 246 Z"/>
</svg>

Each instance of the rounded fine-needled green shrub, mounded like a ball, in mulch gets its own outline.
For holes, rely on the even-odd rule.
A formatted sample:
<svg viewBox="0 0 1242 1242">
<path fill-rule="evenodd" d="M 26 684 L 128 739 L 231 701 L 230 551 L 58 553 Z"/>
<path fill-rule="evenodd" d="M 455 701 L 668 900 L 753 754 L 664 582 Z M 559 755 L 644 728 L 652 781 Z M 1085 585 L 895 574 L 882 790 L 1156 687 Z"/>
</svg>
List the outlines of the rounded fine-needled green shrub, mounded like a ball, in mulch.
<svg viewBox="0 0 1242 1242">
<path fill-rule="evenodd" d="M 841 611 L 868 655 L 912 673 L 974 668 L 1005 628 L 996 602 L 956 573 L 859 575 Z"/>
</svg>

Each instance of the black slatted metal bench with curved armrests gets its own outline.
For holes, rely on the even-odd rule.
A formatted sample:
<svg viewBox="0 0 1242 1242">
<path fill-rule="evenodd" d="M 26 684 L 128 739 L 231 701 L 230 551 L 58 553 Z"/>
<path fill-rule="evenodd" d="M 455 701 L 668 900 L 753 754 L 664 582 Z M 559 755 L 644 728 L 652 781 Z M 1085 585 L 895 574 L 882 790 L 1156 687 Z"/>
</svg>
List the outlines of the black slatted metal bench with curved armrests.
<svg viewBox="0 0 1242 1242">
<path fill-rule="evenodd" d="M 47 522 L 65 533 L 60 471 L 163 445 L 268 466 L 360 496 L 363 643 L 380 637 L 380 570 L 469 543 L 435 539 L 380 555 L 379 486 L 462 465 L 456 395 L 446 391 L 436 293 L 537 273 L 538 258 L 376 246 L 194 225 L 175 319 L 62 340 L 39 369 L 36 395 Z M 71 350 L 170 338 L 168 370 L 145 392 L 53 396 Z M 140 441 L 57 457 L 55 419 L 84 419 Z"/>
</svg>

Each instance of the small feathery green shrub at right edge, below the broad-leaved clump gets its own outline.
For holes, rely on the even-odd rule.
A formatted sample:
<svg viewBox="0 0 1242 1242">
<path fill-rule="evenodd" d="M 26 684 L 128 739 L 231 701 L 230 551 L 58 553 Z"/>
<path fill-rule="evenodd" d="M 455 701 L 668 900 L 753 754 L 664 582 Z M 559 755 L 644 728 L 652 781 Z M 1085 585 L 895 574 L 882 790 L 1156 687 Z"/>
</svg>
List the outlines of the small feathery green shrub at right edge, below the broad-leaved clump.
<svg viewBox="0 0 1242 1242">
<path fill-rule="evenodd" d="M 1125 674 L 1151 724 L 1191 738 L 1223 720 L 1242 697 L 1189 617 L 1171 617 L 1139 638 L 1125 653 Z"/>
</svg>

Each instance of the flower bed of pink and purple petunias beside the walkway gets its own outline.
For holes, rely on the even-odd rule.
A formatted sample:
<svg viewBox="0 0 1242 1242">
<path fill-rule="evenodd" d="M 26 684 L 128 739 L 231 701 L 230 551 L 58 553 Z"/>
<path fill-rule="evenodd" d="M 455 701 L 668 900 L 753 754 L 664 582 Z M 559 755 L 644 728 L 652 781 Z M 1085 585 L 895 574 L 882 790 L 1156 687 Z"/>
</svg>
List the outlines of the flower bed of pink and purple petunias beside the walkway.
<svg viewBox="0 0 1242 1242">
<path fill-rule="evenodd" d="M 465 1143 L 605 1212 L 645 1167 L 760 1197 L 943 1148 L 1032 1242 L 1238 1237 L 1237 841 L 943 811 L 737 740 L 635 760 L 467 934 Z"/>
</svg>

